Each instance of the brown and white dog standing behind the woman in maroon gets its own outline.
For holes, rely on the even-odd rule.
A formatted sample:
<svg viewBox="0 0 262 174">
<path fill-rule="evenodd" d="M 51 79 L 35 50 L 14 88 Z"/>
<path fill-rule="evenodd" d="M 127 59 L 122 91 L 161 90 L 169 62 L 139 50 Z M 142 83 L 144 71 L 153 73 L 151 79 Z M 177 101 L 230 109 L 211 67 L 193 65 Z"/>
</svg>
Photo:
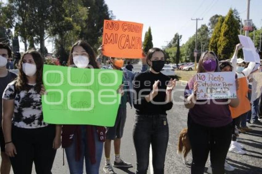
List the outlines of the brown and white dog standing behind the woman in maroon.
<svg viewBox="0 0 262 174">
<path fill-rule="evenodd" d="M 178 137 L 178 155 L 182 154 L 183 160 L 185 164 L 189 164 L 189 162 L 186 160 L 186 156 L 188 152 L 190 152 L 191 146 L 189 142 L 189 138 L 187 136 L 187 128 L 183 129 L 180 132 L 180 135 Z"/>
</svg>

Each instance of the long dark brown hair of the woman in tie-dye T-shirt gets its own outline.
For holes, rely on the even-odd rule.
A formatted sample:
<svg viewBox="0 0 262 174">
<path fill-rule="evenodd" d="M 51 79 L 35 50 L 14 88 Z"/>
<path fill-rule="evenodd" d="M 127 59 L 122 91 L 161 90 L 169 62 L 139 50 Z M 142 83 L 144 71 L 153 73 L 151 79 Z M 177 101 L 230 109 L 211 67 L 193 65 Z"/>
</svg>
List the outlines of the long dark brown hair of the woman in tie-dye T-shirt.
<svg viewBox="0 0 262 174">
<path fill-rule="evenodd" d="M 15 82 L 15 87 L 17 90 L 22 91 L 22 90 L 26 90 L 28 91 L 30 89 L 30 87 L 27 85 L 27 76 L 26 74 L 23 72 L 23 67 L 22 67 L 22 61 L 25 57 L 25 55 L 30 54 L 34 61 L 35 61 L 35 65 L 36 65 L 36 85 L 35 85 L 35 90 L 39 93 L 41 90 L 41 85 L 43 84 L 43 78 L 42 78 L 42 74 L 43 74 L 43 58 L 41 56 L 41 54 L 34 50 L 34 49 L 30 49 L 28 50 L 26 53 L 24 53 L 22 59 L 20 59 L 19 63 L 18 63 L 18 77 L 16 78 L 16 82 Z"/>
</svg>

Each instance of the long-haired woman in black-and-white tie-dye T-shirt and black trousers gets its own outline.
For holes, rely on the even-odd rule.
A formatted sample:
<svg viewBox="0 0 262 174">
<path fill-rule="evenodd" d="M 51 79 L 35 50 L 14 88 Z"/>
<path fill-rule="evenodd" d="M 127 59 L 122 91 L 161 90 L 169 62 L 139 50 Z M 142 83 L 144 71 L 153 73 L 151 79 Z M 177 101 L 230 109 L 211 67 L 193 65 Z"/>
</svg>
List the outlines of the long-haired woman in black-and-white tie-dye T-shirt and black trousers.
<svg viewBox="0 0 262 174">
<path fill-rule="evenodd" d="M 3 132 L 6 154 L 15 174 L 51 173 L 56 149 L 61 145 L 60 126 L 43 121 L 41 85 L 43 58 L 27 51 L 19 61 L 19 74 L 3 93 Z"/>
</svg>

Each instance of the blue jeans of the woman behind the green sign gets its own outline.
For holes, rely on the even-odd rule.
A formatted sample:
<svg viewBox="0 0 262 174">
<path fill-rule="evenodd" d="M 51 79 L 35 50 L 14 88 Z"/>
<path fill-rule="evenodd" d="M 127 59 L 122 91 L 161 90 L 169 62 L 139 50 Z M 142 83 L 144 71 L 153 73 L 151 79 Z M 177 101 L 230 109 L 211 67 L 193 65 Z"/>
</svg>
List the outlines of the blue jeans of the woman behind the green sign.
<svg viewBox="0 0 262 174">
<path fill-rule="evenodd" d="M 86 139 L 86 130 L 85 127 L 81 127 L 81 152 L 80 160 L 76 161 L 76 138 L 74 138 L 73 143 L 68 148 L 65 148 L 66 157 L 68 161 L 70 174 L 82 174 L 84 168 L 84 159 L 85 159 L 85 168 L 86 173 L 88 174 L 98 174 L 100 161 L 103 153 L 104 143 L 98 140 L 98 135 L 96 130 L 94 130 L 94 138 L 96 143 L 96 164 L 91 164 L 88 157 L 87 149 L 87 139 Z"/>
</svg>

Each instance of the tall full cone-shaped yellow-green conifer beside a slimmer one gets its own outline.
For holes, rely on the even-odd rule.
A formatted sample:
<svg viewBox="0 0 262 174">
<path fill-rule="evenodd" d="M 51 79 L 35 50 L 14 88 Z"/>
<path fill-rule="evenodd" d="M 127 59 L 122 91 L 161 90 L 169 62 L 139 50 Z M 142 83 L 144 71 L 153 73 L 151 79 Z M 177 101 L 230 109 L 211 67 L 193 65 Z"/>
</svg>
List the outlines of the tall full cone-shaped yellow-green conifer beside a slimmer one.
<svg viewBox="0 0 262 174">
<path fill-rule="evenodd" d="M 225 17 L 221 27 L 221 33 L 218 41 L 218 57 L 221 59 L 231 58 L 235 45 L 239 42 L 239 21 L 234 16 L 234 12 L 230 9 Z"/>
</svg>

